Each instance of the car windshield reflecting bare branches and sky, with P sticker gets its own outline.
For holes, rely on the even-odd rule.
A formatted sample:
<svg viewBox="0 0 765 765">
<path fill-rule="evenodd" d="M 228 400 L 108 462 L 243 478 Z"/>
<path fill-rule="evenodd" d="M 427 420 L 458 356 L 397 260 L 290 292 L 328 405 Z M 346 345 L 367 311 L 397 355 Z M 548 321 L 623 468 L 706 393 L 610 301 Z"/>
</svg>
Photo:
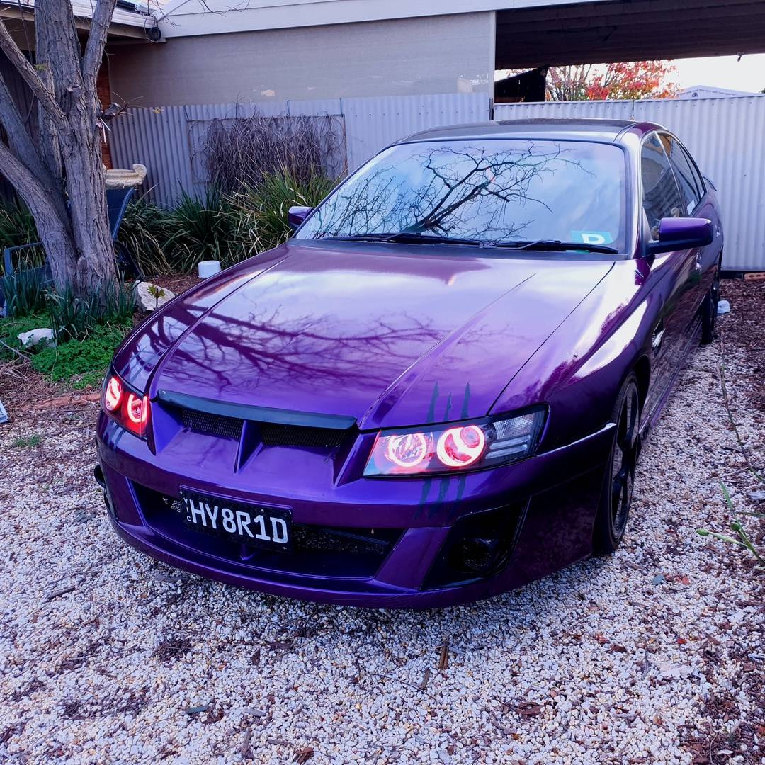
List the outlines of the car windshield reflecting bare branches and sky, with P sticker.
<svg viewBox="0 0 765 765">
<path fill-rule="evenodd" d="M 624 168 L 620 148 L 594 142 L 396 145 L 330 194 L 296 236 L 623 252 Z"/>
</svg>

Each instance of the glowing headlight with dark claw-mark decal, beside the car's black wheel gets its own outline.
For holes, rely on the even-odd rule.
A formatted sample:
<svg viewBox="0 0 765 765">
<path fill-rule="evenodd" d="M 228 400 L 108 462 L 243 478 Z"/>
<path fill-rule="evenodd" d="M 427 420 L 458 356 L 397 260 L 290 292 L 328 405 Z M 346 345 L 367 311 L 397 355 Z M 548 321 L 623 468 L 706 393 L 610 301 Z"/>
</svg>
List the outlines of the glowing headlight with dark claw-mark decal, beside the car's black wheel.
<svg viewBox="0 0 765 765">
<path fill-rule="evenodd" d="M 402 476 L 476 470 L 522 460 L 533 454 L 547 408 L 435 428 L 402 428 L 377 435 L 364 475 Z"/>
</svg>

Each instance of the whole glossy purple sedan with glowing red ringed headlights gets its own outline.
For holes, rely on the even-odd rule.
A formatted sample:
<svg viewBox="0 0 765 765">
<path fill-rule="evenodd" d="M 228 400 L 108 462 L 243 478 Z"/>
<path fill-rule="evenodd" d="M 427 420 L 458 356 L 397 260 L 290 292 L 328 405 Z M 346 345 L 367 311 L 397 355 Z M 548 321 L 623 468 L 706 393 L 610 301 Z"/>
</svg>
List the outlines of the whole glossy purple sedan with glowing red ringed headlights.
<svg viewBox="0 0 765 765">
<path fill-rule="evenodd" d="M 679 140 L 433 129 L 290 220 L 117 351 L 96 477 L 122 539 L 371 607 L 474 601 L 614 552 L 640 444 L 715 330 L 718 202 Z"/>
</svg>

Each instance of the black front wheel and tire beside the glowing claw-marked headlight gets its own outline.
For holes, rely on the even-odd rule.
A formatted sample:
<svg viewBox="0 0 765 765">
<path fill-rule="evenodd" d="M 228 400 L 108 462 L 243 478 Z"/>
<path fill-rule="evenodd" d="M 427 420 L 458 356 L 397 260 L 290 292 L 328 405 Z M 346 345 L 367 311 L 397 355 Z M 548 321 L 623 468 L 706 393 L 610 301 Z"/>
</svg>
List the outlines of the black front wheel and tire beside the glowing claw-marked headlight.
<svg viewBox="0 0 765 765">
<path fill-rule="evenodd" d="M 595 517 L 595 555 L 610 555 L 617 549 L 630 516 L 635 468 L 640 457 L 640 390 L 633 373 L 622 383 L 610 422 L 617 427 Z"/>
</svg>

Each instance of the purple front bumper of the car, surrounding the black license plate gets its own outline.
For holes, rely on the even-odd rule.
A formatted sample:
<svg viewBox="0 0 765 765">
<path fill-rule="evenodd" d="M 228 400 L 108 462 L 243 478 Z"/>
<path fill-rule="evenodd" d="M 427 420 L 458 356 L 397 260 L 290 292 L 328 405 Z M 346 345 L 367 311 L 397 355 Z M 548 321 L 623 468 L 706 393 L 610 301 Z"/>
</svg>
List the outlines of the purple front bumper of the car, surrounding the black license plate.
<svg viewBox="0 0 765 765">
<path fill-rule="evenodd" d="M 222 451 L 234 446 L 220 440 L 189 442 L 182 454 L 170 444 L 155 454 L 105 415 L 96 441 L 112 526 L 152 558 L 301 600 L 427 608 L 490 597 L 588 556 L 613 437 L 608 425 L 554 451 L 462 476 L 347 482 L 333 480 L 326 457 L 294 449 L 274 449 L 248 470 L 229 472 L 220 470 Z M 322 490 L 311 490 L 317 486 Z M 284 553 L 194 532 L 174 503 L 182 487 L 288 507 L 293 526 L 324 541 Z M 488 522 L 501 538 L 496 565 L 471 570 L 460 558 L 456 570 L 461 553 L 454 551 L 464 539 L 485 536 Z M 362 528 L 364 544 L 333 546 L 335 532 Z"/>
</svg>

